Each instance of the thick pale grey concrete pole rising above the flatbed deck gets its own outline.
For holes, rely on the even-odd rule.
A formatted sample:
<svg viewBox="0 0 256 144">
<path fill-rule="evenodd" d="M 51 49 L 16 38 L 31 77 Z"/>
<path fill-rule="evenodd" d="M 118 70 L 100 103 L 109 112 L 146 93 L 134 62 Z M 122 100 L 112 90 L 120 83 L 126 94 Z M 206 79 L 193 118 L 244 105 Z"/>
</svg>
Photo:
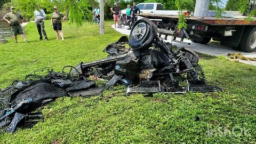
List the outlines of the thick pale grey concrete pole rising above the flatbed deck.
<svg viewBox="0 0 256 144">
<path fill-rule="evenodd" d="M 210 0 L 196 0 L 194 17 L 206 17 L 209 6 Z"/>
</svg>

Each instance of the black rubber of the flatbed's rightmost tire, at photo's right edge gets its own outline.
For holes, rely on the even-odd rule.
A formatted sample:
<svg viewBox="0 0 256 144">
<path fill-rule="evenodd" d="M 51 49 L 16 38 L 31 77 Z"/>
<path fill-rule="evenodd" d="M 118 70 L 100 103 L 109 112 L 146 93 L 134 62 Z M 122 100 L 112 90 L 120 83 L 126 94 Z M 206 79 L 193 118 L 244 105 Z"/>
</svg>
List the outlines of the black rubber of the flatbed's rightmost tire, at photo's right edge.
<svg viewBox="0 0 256 144">
<path fill-rule="evenodd" d="M 248 27 L 246 30 L 244 30 L 244 33 L 240 40 L 242 51 L 254 52 L 256 50 L 256 46 L 253 48 L 250 46 L 251 37 L 255 31 L 256 31 L 256 27 Z"/>
</svg>

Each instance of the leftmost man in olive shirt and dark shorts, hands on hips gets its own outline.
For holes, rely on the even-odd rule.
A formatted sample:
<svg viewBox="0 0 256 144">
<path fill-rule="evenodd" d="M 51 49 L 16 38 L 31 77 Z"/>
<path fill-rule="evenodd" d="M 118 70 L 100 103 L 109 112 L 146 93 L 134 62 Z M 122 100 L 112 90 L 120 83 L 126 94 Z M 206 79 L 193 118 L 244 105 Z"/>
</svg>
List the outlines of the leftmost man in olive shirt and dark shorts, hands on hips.
<svg viewBox="0 0 256 144">
<path fill-rule="evenodd" d="M 20 34 L 21 37 L 24 39 L 25 43 L 28 43 L 28 41 L 25 38 L 25 35 L 23 34 L 23 30 L 21 27 L 21 23 L 24 21 L 24 17 L 15 12 L 15 7 L 11 6 L 11 12 L 4 15 L 4 20 L 9 23 L 12 29 L 13 37 L 15 39 L 15 43 L 18 43 L 17 41 L 17 35 Z"/>
</svg>

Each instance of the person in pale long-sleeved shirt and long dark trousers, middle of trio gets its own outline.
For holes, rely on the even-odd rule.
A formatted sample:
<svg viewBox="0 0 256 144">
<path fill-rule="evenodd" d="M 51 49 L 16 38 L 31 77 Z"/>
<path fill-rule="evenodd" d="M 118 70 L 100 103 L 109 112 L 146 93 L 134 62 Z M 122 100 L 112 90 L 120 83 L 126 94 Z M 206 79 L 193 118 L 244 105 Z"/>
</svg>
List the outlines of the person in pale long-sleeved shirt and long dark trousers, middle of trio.
<svg viewBox="0 0 256 144">
<path fill-rule="evenodd" d="M 40 9 L 39 5 L 37 5 L 36 10 L 34 11 L 34 16 L 35 16 L 35 22 L 36 22 L 38 34 L 40 36 L 39 40 L 40 41 L 43 40 L 43 36 L 42 36 L 42 32 L 43 32 L 45 41 L 48 41 L 46 32 L 44 30 L 44 19 L 46 19 L 46 15 L 44 10 Z"/>
</svg>

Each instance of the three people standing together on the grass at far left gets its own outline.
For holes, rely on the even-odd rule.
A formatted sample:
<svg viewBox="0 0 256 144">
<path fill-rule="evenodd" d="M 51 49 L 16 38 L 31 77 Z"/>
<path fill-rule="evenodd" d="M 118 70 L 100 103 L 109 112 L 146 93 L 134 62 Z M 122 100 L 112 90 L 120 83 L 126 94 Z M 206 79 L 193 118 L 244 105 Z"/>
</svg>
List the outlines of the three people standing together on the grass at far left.
<svg viewBox="0 0 256 144">
<path fill-rule="evenodd" d="M 23 34 L 23 29 L 21 27 L 21 23 L 24 21 L 24 17 L 18 13 L 14 6 L 10 7 L 11 12 L 4 15 L 4 20 L 9 23 L 13 37 L 15 40 L 15 43 L 18 43 L 17 41 L 17 35 L 20 34 L 25 43 L 28 43 L 26 40 L 25 35 Z M 53 30 L 55 30 L 56 33 L 56 39 L 59 39 L 59 35 L 61 36 L 61 39 L 64 40 L 63 32 L 62 32 L 62 21 L 66 19 L 65 15 L 60 13 L 58 11 L 58 7 L 53 7 L 54 12 L 51 16 L 51 26 L 53 26 Z M 48 41 L 48 37 L 46 34 L 46 31 L 44 29 L 44 20 L 46 19 L 46 14 L 44 10 L 40 9 L 40 6 L 37 5 L 36 10 L 34 11 L 35 16 L 35 23 L 39 34 L 39 41 L 43 40 L 43 35 L 45 41 Z M 43 35 L 42 35 L 43 33 Z"/>
</svg>

